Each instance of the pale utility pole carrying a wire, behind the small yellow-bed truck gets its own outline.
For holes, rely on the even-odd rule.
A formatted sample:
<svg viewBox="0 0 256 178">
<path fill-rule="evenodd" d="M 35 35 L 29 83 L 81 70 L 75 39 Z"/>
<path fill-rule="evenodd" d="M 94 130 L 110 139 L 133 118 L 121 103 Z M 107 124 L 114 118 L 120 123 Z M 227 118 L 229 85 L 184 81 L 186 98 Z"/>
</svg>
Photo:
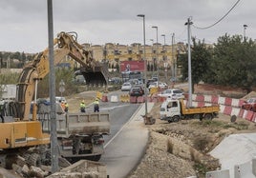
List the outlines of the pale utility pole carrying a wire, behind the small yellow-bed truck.
<svg viewBox="0 0 256 178">
<path fill-rule="evenodd" d="M 185 26 L 187 26 L 187 42 L 188 42 L 188 107 L 192 107 L 192 73 L 191 73 L 191 51 L 190 51 L 190 39 L 191 32 L 190 26 L 193 24 L 190 17 L 187 19 Z"/>
</svg>

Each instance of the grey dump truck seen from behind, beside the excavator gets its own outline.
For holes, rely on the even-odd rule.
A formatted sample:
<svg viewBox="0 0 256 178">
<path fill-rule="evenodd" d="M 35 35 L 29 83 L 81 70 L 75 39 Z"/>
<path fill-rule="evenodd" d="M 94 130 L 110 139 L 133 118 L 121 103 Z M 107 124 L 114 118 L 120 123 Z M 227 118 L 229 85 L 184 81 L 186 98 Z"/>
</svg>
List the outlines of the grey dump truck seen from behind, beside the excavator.
<svg viewBox="0 0 256 178">
<path fill-rule="evenodd" d="M 51 108 L 46 100 L 37 101 L 37 118 L 44 133 L 51 131 Z M 69 162 L 98 161 L 104 153 L 103 135 L 110 134 L 109 112 L 65 112 L 56 102 L 56 134 L 60 155 Z"/>
</svg>

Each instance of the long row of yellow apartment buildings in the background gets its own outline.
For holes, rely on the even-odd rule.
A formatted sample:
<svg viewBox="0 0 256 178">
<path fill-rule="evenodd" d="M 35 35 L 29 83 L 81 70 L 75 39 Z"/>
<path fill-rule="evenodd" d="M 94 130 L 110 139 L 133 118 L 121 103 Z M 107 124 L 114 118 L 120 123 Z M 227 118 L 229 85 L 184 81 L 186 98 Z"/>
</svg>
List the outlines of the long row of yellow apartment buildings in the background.
<svg viewBox="0 0 256 178">
<path fill-rule="evenodd" d="M 109 67 L 116 67 L 120 61 L 144 60 L 144 46 L 139 43 L 131 45 L 120 45 L 106 43 L 103 46 L 83 44 L 84 48 L 90 50 L 97 61 L 106 61 Z M 155 43 L 145 46 L 145 58 L 149 69 L 170 68 L 176 65 L 178 53 L 186 51 L 183 43 L 173 46 Z"/>
</svg>

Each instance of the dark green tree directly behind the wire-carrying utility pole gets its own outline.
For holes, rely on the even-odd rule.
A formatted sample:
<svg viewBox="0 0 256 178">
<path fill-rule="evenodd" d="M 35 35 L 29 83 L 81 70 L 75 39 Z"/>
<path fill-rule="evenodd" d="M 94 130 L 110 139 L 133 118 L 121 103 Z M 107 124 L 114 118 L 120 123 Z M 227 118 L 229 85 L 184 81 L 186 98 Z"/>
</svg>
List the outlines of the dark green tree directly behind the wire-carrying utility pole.
<svg viewBox="0 0 256 178">
<path fill-rule="evenodd" d="M 191 47 L 191 78 L 192 86 L 198 84 L 205 77 L 205 73 L 208 71 L 208 64 L 211 60 L 211 49 L 207 49 L 204 41 L 196 41 L 192 38 L 193 46 Z M 182 79 L 188 77 L 188 54 L 179 55 L 178 66 L 182 66 L 181 73 Z M 193 89 L 194 90 L 194 89 Z"/>
</svg>

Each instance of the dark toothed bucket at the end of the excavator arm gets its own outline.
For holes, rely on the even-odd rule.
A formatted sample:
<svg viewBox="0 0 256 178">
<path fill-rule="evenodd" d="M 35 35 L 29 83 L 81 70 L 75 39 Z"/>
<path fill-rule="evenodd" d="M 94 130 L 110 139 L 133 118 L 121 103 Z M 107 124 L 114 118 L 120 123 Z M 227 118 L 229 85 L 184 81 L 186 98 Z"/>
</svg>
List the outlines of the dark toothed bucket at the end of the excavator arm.
<svg viewBox="0 0 256 178">
<path fill-rule="evenodd" d="M 94 69 L 80 69 L 80 73 L 84 76 L 87 86 L 107 86 L 108 85 L 108 68 L 106 63 L 98 63 Z"/>
</svg>

